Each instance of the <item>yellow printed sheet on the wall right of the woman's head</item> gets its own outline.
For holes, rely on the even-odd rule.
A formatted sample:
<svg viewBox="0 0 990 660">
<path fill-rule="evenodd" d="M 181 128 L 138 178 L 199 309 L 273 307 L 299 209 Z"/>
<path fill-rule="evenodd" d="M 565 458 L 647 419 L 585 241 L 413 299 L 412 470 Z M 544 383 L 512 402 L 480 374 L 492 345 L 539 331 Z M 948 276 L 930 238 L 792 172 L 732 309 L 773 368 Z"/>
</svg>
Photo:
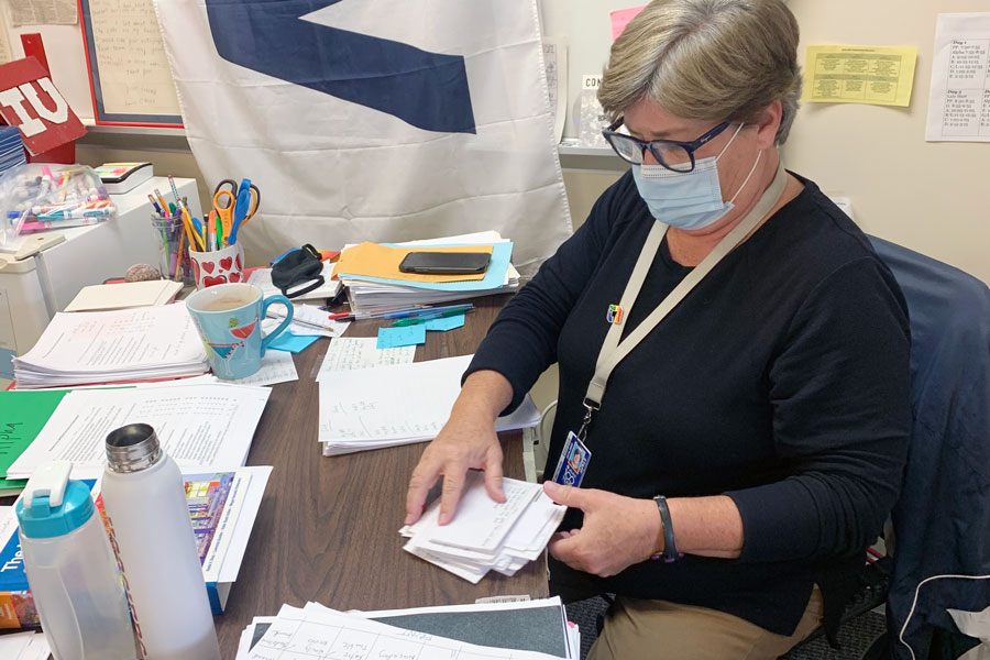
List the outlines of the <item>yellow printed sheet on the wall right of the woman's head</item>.
<svg viewBox="0 0 990 660">
<path fill-rule="evenodd" d="M 809 46 L 802 100 L 906 108 L 915 59 L 913 46 Z"/>
</svg>

